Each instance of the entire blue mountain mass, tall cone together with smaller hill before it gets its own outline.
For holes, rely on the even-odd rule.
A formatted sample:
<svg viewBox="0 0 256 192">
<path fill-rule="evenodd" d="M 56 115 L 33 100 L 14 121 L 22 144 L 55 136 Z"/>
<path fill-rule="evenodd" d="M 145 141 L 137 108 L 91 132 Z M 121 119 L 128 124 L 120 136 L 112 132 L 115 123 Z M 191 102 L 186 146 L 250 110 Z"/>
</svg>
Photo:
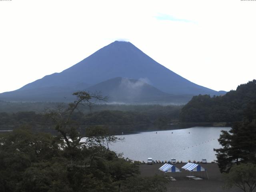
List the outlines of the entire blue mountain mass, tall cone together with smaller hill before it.
<svg viewBox="0 0 256 192">
<path fill-rule="evenodd" d="M 130 91 L 125 95 L 120 94 L 124 92 L 121 88 L 124 82 L 130 84 Z M 140 84 L 140 87 L 132 84 Z M 132 91 L 132 88 L 136 90 Z M 141 102 L 144 99 L 148 102 L 177 102 L 174 98 L 184 98 L 179 102 L 186 103 L 194 95 L 225 93 L 186 80 L 130 42 L 115 41 L 60 73 L 44 76 L 18 90 L 1 93 L 0 100 L 69 102 L 74 100 L 72 93 L 78 90 L 104 90 L 103 94 L 119 102 Z M 129 96 L 134 92 L 137 94 Z"/>
</svg>

